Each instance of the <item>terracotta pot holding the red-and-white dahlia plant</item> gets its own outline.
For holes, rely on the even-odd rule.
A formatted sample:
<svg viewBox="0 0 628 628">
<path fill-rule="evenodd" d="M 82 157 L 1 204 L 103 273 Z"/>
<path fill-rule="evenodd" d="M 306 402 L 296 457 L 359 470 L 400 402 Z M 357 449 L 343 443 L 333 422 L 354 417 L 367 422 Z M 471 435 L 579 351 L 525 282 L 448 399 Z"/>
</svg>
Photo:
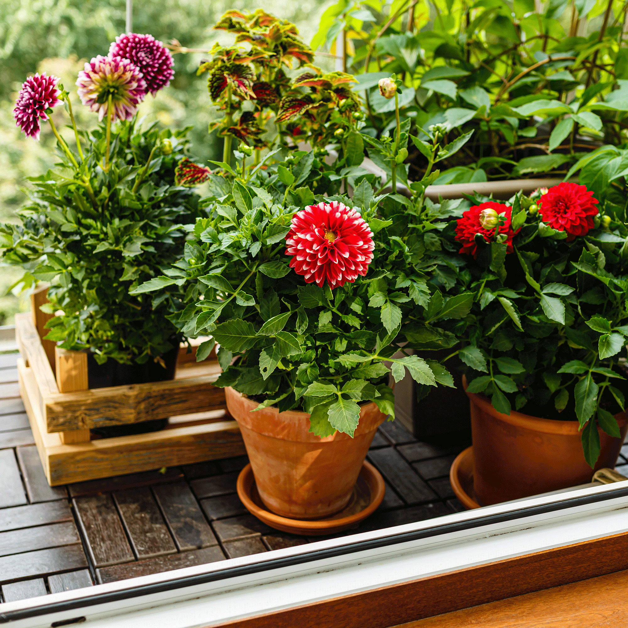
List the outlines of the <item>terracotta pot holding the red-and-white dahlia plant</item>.
<svg viewBox="0 0 628 628">
<path fill-rule="evenodd" d="M 225 388 L 227 408 L 238 422 L 257 490 L 266 507 L 291 519 L 322 519 L 349 501 L 371 441 L 386 418 L 376 404 L 360 409 L 354 437 L 308 432 L 310 415 L 264 408 Z"/>
</svg>

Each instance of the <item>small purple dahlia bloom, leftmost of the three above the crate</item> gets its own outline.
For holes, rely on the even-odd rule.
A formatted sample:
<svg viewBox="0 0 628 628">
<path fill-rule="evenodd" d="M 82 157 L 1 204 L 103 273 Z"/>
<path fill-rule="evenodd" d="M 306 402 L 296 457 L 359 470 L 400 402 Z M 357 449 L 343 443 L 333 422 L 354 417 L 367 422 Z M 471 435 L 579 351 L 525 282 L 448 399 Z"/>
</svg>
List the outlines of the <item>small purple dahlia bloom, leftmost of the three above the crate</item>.
<svg viewBox="0 0 628 628">
<path fill-rule="evenodd" d="M 39 140 L 40 120 L 47 120 L 46 109 L 52 109 L 60 104 L 58 89 L 59 79 L 47 77 L 43 72 L 41 76 L 36 74 L 28 77 L 19 90 L 18 100 L 15 102 L 13 117 L 27 138 Z"/>
</svg>

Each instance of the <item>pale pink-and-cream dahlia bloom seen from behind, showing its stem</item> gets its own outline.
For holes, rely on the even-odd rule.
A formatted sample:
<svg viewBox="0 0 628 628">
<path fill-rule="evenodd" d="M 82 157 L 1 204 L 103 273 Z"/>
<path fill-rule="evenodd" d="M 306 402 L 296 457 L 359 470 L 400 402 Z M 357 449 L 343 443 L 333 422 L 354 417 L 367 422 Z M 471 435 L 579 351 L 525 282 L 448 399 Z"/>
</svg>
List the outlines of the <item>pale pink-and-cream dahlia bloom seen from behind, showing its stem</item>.
<svg viewBox="0 0 628 628">
<path fill-rule="evenodd" d="M 94 57 L 78 73 L 76 84 L 81 102 L 97 111 L 99 120 L 107 114 L 109 96 L 112 97 L 114 122 L 130 120 L 146 95 L 146 83 L 139 68 L 120 57 Z"/>
</svg>

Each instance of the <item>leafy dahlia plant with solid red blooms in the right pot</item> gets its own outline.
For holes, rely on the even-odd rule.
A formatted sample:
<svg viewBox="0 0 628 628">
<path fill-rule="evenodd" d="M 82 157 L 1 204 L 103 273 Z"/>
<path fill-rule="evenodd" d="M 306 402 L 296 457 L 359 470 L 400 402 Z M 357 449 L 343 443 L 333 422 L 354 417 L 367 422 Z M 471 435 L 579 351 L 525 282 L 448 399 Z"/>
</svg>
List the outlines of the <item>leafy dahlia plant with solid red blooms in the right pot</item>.
<svg viewBox="0 0 628 628">
<path fill-rule="evenodd" d="M 577 418 L 593 467 L 598 428 L 619 436 L 614 414 L 625 408 L 623 211 L 600 216 L 593 193 L 575 183 L 507 205 L 475 200 L 455 228 L 470 273 L 462 289 L 474 294 L 459 352 L 470 367 L 467 391 L 505 414 Z"/>
</svg>

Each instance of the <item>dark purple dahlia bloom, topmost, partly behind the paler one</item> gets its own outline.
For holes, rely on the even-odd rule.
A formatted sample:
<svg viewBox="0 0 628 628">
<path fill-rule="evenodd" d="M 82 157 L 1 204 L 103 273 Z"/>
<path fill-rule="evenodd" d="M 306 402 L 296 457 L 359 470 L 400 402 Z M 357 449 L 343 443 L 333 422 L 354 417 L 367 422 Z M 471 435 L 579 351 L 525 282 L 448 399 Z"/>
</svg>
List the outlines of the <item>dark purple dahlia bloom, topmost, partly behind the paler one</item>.
<svg viewBox="0 0 628 628">
<path fill-rule="evenodd" d="M 161 41 L 152 35 L 128 33 L 116 37 L 109 48 L 109 57 L 128 59 L 139 68 L 146 83 L 146 92 L 153 96 L 164 87 L 170 85 L 175 75 L 172 55 Z"/>
</svg>

